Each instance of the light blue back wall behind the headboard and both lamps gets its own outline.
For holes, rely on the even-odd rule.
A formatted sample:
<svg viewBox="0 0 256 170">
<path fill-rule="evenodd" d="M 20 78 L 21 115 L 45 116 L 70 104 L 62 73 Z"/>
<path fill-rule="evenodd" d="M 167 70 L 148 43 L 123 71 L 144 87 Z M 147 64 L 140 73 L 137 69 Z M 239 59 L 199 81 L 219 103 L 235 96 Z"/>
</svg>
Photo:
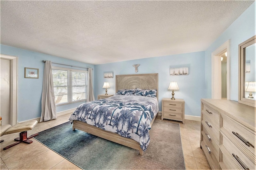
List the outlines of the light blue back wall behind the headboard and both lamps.
<svg viewBox="0 0 256 170">
<path fill-rule="evenodd" d="M 169 55 L 164 57 L 153 57 L 124 61 L 109 64 L 95 65 L 94 94 L 105 94 L 102 88 L 104 82 L 109 82 L 108 94 L 115 94 L 115 75 L 118 74 L 145 74 L 158 73 L 158 100 L 162 110 L 162 98 L 171 98 L 168 90 L 170 82 L 178 83 L 180 90 L 174 92 L 175 98 L 185 100 L 185 114 L 200 116 L 200 99 L 205 98 L 205 74 L 204 74 L 204 52 Z M 138 72 L 135 72 L 133 64 L 140 64 Z M 188 66 L 189 75 L 170 76 L 170 68 Z M 114 78 L 103 78 L 103 72 L 114 71 Z"/>
</svg>

